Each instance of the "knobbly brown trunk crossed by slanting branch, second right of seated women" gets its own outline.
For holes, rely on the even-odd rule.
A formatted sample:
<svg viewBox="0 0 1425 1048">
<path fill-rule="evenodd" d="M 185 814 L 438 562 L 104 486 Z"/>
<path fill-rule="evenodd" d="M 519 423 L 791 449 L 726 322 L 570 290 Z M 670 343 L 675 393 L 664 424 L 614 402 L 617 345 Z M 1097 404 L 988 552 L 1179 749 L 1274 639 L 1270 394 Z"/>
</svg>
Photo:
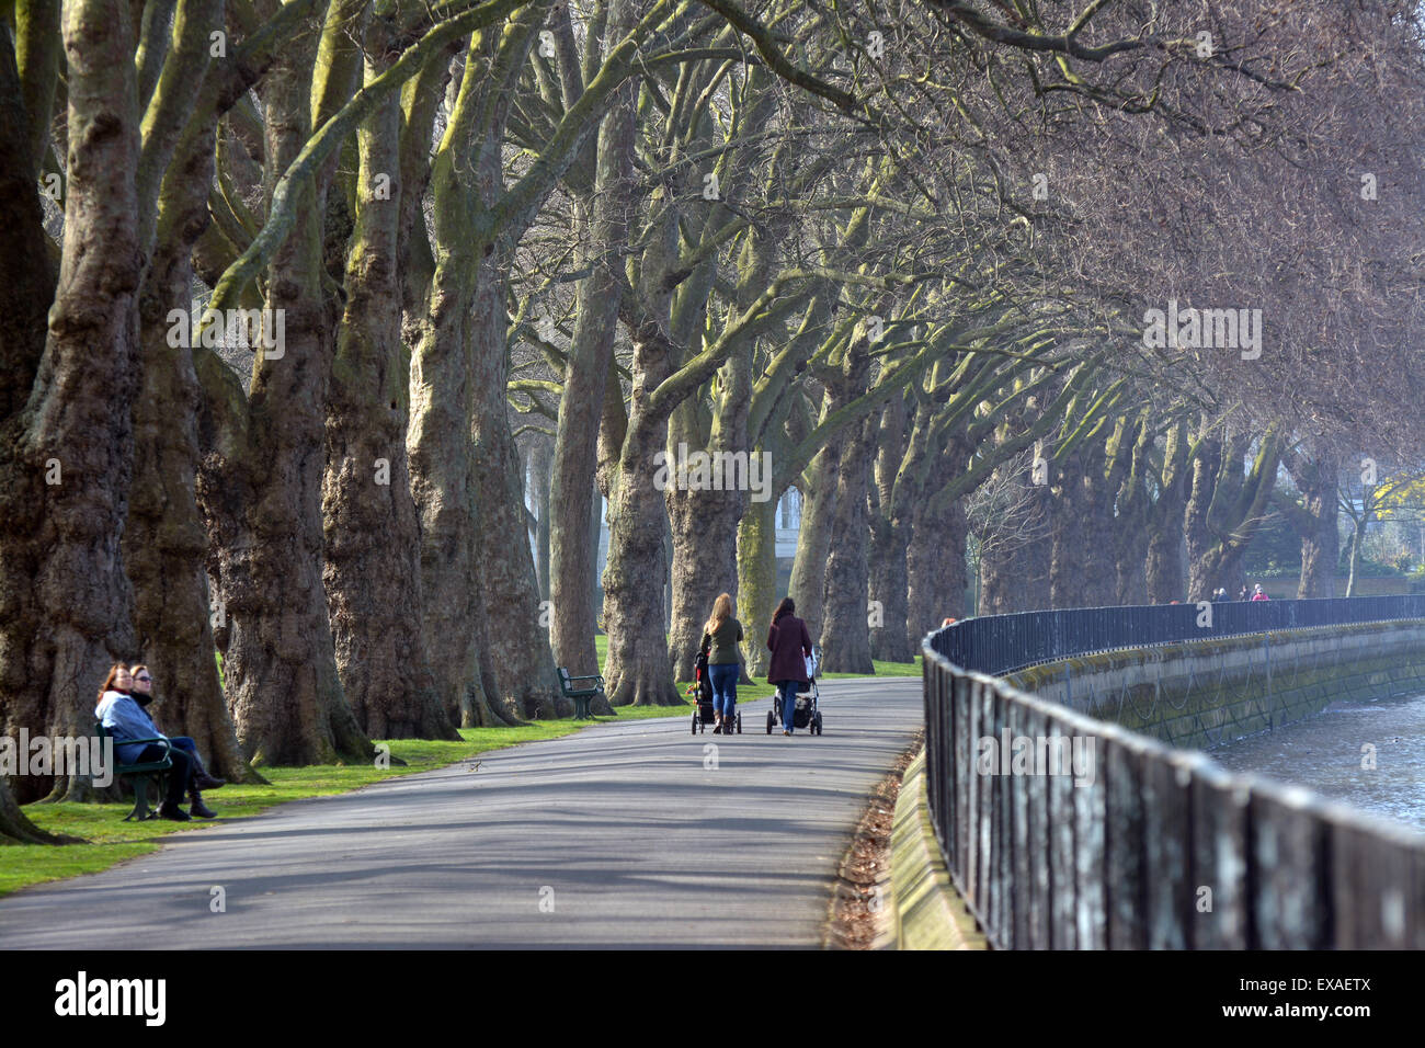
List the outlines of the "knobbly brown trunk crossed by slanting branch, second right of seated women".
<svg viewBox="0 0 1425 1048">
<path fill-rule="evenodd" d="M 311 131 L 315 40 L 284 51 L 264 96 L 269 183 Z M 268 192 L 271 192 L 271 184 Z M 258 351 L 247 441 L 235 459 L 209 455 L 200 482 L 212 575 L 229 619 L 224 676 L 254 764 L 365 761 L 375 747 L 342 694 L 322 587 L 322 472 L 336 317 L 322 284 L 319 194 L 274 254 L 266 305 L 284 318 L 281 351 Z M 279 355 L 281 354 L 281 355 Z"/>
</svg>

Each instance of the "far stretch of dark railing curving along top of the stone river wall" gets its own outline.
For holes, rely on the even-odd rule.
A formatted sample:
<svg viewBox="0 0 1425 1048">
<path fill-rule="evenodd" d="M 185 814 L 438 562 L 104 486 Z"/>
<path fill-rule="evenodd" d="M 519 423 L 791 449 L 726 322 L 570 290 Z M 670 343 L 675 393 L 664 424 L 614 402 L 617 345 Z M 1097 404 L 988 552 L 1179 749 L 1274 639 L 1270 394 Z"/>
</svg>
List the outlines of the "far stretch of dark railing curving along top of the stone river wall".
<svg viewBox="0 0 1425 1048">
<path fill-rule="evenodd" d="M 1198 625 L 1206 612 L 1211 613 L 1211 626 Z M 1130 605 L 990 615 L 936 630 L 928 643 L 962 669 L 1002 674 L 1116 647 L 1396 619 L 1425 619 L 1425 595 L 1230 600 L 1208 609 L 1200 605 Z"/>
</svg>

